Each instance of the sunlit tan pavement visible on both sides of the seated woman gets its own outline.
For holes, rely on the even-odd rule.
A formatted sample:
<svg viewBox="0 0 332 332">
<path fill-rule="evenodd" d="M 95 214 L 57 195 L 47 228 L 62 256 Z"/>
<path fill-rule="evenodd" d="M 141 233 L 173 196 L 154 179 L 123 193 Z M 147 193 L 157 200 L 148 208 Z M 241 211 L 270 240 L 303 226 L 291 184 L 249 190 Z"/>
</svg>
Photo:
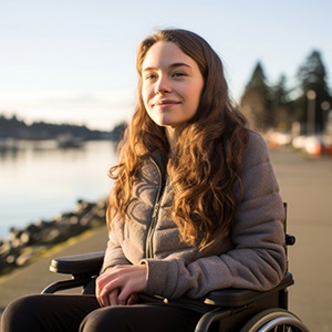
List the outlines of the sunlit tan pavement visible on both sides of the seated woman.
<svg viewBox="0 0 332 332">
<path fill-rule="evenodd" d="M 271 151 L 284 201 L 288 232 L 297 237 L 289 248 L 289 310 L 312 332 L 332 332 L 332 158 L 311 158 L 286 149 Z M 17 299 L 39 293 L 49 283 L 70 278 L 49 271 L 53 257 L 101 251 L 107 240 L 104 227 L 91 230 L 50 250 L 34 263 L 0 278 L 0 313 Z"/>
</svg>

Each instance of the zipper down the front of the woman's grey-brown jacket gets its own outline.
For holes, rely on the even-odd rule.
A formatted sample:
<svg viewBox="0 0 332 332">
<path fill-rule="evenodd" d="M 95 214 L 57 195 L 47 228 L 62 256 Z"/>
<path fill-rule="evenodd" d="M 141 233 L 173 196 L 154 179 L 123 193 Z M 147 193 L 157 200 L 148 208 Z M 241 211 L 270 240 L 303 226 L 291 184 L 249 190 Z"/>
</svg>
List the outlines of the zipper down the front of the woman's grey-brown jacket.
<svg viewBox="0 0 332 332">
<path fill-rule="evenodd" d="M 147 231 L 146 245 L 145 245 L 146 246 L 145 247 L 146 248 L 145 249 L 146 258 L 153 258 L 154 257 L 153 237 L 154 237 L 154 234 L 155 234 L 156 224 L 157 224 L 157 215 L 158 215 L 158 210 L 159 210 L 160 203 L 162 203 L 162 197 L 163 197 L 164 189 L 165 189 L 165 183 L 164 183 L 164 177 L 163 177 L 162 170 L 152 157 L 151 157 L 151 160 L 153 162 L 153 164 L 156 166 L 156 168 L 158 170 L 162 184 L 160 184 L 159 189 L 158 189 L 157 198 L 155 200 L 155 205 L 154 205 L 154 209 L 153 209 L 153 214 L 152 214 L 152 220 L 151 220 L 149 228 L 148 228 L 148 231 Z"/>
</svg>

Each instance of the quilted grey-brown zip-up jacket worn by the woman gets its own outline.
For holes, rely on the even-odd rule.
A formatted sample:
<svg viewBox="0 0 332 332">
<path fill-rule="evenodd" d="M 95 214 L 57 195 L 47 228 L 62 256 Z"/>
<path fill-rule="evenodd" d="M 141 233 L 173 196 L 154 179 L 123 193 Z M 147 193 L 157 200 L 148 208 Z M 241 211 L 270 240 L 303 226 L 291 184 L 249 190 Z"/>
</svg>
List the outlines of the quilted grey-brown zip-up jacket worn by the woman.
<svg viewBox="0 0 332 332">
<path fill-rule="evenodd" d="M 224 288 L 264 291 L 277 286 L 286 270 L 284 211 L 263 138 L 250 133 L 241 174 L 245 195 L 231 234 L 201 251 L 179 240 L 168 214 L 174 193 L 162 163 L 158 154 L 145 160 L 129 221 L 112 221 L 103 270 L 145 263 L 145 294 L 168 300 L 201 299 Z"/>
</svg>

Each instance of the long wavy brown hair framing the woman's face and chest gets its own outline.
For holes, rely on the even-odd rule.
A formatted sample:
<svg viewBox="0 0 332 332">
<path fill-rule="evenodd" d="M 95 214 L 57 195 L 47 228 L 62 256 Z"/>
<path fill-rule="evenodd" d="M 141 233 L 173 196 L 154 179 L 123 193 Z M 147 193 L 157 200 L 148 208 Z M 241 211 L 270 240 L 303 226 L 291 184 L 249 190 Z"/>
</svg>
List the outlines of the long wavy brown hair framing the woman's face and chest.
<svg viewBox="0 0 332 332">
<path fill-rule="evenodd" d="M 148 116 L 142 98 L 142 64 L 158 41 L 176 43 L 194 59 L 204 77 L 198 110 L 181 131 L 167 173 L 174 188 L 172 219 L 180 239 L 206 247 L 229 234 L 240 199 L 240 173 L 248 141 L 247 121 L 229 97 L 220 58 L 199 35 L 167 29 L 145 39 L 137 52 L 137 105 L 120 144 L 118 164 L 110 169 L 115 186 L 110 195 L 107 224 L 127 219 L 133 183 L 142 159 L 158 149 L 169 154 L 165 128 Z"/>
</svg>

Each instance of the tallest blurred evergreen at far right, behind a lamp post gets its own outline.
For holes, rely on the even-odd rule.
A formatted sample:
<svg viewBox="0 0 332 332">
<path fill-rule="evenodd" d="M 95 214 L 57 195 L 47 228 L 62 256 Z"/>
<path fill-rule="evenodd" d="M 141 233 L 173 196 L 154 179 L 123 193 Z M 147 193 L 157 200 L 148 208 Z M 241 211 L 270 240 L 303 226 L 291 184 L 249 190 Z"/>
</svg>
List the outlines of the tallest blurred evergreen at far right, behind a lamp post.
<svg viewBox="0 0 332 332">
<path fill-rule="evenodd" d="M 297 117 L 305 124 L 307 133 L 323 132 L 326 125 L 331 94 L 326 83 L 326 70 L 319 51 L 312 51 L 297 75 L 301 95 L 297 100 Z"/>
</svg>

